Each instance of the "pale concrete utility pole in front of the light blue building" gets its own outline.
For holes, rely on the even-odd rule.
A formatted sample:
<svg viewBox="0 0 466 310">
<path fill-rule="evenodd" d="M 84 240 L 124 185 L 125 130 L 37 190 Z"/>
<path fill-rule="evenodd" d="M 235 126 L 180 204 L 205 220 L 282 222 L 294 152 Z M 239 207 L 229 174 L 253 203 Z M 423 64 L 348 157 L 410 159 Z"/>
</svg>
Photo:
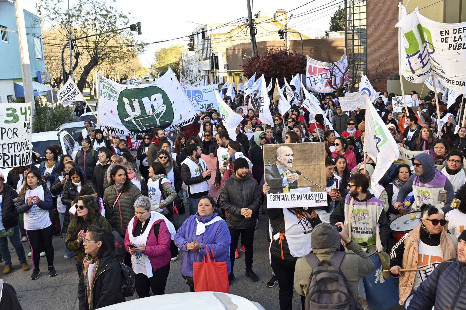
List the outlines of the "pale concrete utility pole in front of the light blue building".
<svg viewBox="0 0 466 310">
<path fill-rule="evenodd" d="M 32 102 L 31 121 L 35 115 L 34 90 L 32 87 L 31 64 L 29 62 L 29 49 L 27 47 L 26 26 L 24 24 L 24 11 L 21 0 L 14 0 L 16 15 L 16 30 L 18 31 L 18 45 L 20 48 L 21 73 L 23 75 L 24 102 Z"/>
</svg>

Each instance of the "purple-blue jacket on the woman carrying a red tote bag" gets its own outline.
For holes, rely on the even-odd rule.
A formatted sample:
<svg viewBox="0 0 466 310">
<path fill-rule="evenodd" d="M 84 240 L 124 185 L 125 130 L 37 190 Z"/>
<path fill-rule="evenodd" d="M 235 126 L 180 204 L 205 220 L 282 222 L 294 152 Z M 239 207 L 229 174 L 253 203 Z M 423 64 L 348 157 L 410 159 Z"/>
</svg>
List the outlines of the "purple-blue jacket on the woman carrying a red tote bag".
<svg viewBox="0 0 466 310">
<path fill-rule="evenodd" d="M 216 262 L 226 262 L 226 269 L 228 274 L 231 272 L 230 263 L 230 243 L 232 238 L 230 231 L 224 220 L 215 222 L 206 226 L 206 231 L 200 236 L 196 236 L 196 218 L 199 222 L 210 222 L 214 217 L 219 216 L 216 212 L 212 216 L 199 216 L 196 215 L 188 217 L 183 225 L 178 229 L 175 235 L 175 244 L 180 249 L 182 254 L 181 267 L 179 273 L 182 276 L 192 277 L 192 263 L 203 262 L 206 257 L 206 246 L 209 247 L 209 255 L 212 259 L 212 251 L 215 256 Z M 197 241 L 202 243 L 202 248 L 199 251 L 186 251 L 186 243 Z"/>
</svg>

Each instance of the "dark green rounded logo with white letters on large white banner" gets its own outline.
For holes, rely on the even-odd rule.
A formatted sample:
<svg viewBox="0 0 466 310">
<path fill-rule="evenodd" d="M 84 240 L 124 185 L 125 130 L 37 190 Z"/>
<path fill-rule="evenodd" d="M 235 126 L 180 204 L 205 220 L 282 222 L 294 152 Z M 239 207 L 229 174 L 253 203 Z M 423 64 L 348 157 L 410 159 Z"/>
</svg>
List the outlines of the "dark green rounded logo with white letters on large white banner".
<svg viewBox="0 0 466 310">
<path fill-rule="evenodd" d="M 162 88 L 150 86 L 123 90 L 118 96 L 118 116 L 131 131 L 167 128 L 173 122 L 173 106 Z"/>
</svg>

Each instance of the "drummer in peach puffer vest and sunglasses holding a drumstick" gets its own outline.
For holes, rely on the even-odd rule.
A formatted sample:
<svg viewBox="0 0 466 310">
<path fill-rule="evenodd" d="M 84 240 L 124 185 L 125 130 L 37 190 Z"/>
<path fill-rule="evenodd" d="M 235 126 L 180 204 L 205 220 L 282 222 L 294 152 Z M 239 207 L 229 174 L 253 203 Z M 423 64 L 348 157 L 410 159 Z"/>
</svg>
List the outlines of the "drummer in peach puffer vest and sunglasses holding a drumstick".
<svg viewBox="0 0 466 310">
<path fill-rule="evenodd" d="M 421 206 L 421 224 L 404 235 L 390 251 L 390 271 L 400 275 L 399 304 L 403 305 L 434 270 L 443 261 L 456 257 L 458 242 L 455 236 L 448 234 L 442 209 L 430 204 Z M 417 244 L 418 246 L 416 246 Z M 400 269 L 422 269 L 418 271 L 401 271 Z"/>
</svg>

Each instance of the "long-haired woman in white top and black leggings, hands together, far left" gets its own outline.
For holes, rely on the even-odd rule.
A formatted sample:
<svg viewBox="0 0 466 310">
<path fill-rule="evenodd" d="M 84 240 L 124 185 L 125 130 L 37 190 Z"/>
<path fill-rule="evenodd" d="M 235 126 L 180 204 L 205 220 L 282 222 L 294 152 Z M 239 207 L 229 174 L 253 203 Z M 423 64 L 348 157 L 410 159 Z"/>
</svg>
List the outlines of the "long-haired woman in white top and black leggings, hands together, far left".
<svg viewBox="0 0 466 310">
<path fill-rule="evenodd" d="M 39 261 L 41 250 L 45 250 L 48 264 L 48 275 L 56 276 L 54 267 L 54 247 L 52 245 L 53 229 L 48 212 L 54 209 L 52 194 L 42 182 L 39 170 L 31 170 L 26 175 L 26 183 L 18 196 L 16 212 L 24 213 L 24 229 L 31 246 L 31 256 L 34 270 L 31 279 L 35 280 L 41 274 Z"/>
</svg>

